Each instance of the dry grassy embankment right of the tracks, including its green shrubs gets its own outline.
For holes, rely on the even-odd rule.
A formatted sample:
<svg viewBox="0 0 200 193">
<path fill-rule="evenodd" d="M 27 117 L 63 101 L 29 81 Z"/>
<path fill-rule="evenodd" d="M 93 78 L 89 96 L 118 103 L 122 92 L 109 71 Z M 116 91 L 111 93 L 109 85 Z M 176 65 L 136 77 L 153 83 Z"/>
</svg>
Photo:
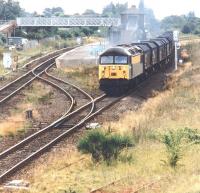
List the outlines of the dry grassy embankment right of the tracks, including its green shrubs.
<svg viewBox="0 0 200 193">
<path fill-rule="evenodd" d="M 35 167 L 29 178 L 30 192 L 85 193 L 99 187 L 105 193 L 138 189 L 148 193 L 199 192 L 199 47 L 191 46 L 192 65 L 184 64 L 170 75 L 165 91 L 138 110 L 124 113 L 119 121 L 89 132 L 79 141 L 80 152 L 72 145 L 53 153 L 46 165 Z M 88 154 L 94 148 L 100 149 L 98 152 L 106 149 L 100 145 L 105 136 L 127 135 L 134 146 L 121 149 L 118 159 L 109 160 L 109 164 L 102 159 L 94 162 Z M 91 136 L 99 144 L 94 146 Z"/>
</svg>

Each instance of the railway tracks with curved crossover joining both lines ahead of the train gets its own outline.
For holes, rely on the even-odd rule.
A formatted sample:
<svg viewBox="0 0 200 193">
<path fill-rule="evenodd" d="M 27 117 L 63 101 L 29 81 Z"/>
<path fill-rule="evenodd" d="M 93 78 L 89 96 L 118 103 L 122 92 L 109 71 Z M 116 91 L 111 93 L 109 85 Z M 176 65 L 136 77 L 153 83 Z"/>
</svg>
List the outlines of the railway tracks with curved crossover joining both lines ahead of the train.
<svg viewBox="0 0 200 193">
<path fill-rule="evenodd" d="M 64 92 L 71 100 L 70 108 L 58 120 L 0 153 L 0 183 L 123 98 L 108 98 L 103 94 L 93 99 L 79 87 L 50 75 L 48 69 L 54 65 L 56 57 L 48 59 L 23 75 L 23 78 L 0 89 L 0 95 L 6 93 L 2 94 L 0 101 L 0 104 L 4 104 L 37 78 Z M 81 97 L 84 100 L 79 102 Z M 76 109 L 72 111 L 75 105 Z"/>
</svg>

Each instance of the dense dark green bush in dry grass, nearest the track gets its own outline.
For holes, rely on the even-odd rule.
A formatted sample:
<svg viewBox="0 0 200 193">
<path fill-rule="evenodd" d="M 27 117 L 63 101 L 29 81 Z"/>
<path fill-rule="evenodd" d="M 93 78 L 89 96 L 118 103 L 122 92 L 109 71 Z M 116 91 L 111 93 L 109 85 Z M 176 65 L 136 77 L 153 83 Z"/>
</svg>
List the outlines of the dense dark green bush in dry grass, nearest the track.
<svg viewBox="0 0 200 193">
<path fill-rule="evenodd" d="M 85 154 L 91 154 L 95 162 L 100 160 L 110 164 L 118 159 L 121 151 L 134 144 L 128 136 L 104 133 L 96 130 L 89 132 L 78 144 L 78 150 Z"/>
</svg>

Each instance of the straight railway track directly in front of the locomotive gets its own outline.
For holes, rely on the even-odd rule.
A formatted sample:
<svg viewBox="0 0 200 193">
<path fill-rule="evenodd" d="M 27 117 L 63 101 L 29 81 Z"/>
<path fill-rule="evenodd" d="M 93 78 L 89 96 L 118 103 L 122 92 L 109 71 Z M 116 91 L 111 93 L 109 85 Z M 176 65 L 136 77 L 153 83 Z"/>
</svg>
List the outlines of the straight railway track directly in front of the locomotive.
<svg viewBox="0 0 200 193">
<path fill-rule="evenodd" d="M 102 95 L 2 152 L 0 154 L 0 183 L 121 98 L 123 97 L 108 98 Z M 91 111 L 93 103 L 95 103 L 95 108 Z M 65 129 L 62 127 L 63 124 L 65 124 Z"/>
</svg>

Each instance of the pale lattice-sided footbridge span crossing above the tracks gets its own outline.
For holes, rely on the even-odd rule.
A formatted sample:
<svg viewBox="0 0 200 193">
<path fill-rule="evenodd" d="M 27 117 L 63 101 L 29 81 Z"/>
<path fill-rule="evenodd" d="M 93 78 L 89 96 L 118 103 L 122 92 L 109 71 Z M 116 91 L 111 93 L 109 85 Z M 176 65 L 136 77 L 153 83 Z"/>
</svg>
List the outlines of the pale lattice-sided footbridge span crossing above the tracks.
<svg viewBox="0 0 200 193">
<path fill-rule="evenodd" d="M 120 18 L 106 17 L 21 17 L 17 18 L 17 25 L 21 27 L 32 26 L 55 26 L 55 27 L 78 27 L 78 26 L 120 26 Z"/>
</svg>

